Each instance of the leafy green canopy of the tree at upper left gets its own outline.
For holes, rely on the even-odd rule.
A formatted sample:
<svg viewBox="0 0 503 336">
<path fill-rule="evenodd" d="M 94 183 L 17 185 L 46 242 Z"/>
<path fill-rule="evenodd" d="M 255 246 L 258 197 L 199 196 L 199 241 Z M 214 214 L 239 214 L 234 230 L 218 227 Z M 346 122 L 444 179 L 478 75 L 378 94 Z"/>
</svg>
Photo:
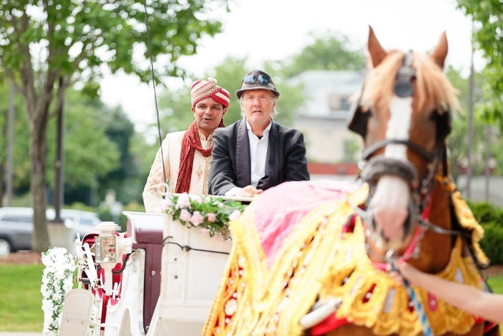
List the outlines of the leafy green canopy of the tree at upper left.
<svg viewBox="0 0 503 336">
<path fill-rule="evenodd" d="M 156 77 L 184 73 L 178 58 L 196 53 L 203 35 L 221 31 L 209 8 L 225 9 L 227 0 L 147 1 L 152 58 L 157 62 L 167 55 L 169 60 L 164 69 L 157 67 L 162 73 Z M 145 82 L 151 79 L 143 2 L 11 1 L 0 3 L 0 13 L 0 63 L 6 68 L 19 69 L 30 59 L 39 64 L 35 68 L 58 69 L 73 78 L 83 75 L 85 82 L 99 79 L 106 68 L 134 73 Z"/>
</svg>

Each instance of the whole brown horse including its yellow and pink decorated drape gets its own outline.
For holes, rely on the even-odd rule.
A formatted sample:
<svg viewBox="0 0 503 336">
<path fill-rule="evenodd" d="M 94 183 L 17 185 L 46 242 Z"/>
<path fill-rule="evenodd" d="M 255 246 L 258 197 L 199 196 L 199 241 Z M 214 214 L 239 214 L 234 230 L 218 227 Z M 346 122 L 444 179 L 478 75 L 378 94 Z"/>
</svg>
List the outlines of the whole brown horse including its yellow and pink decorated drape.
<svg viewBox="0 0 503 336">
<path fill-rule="evenodd" d="M 483 334 L 476 316 L 396 284 L 386 266 L 393 255 L 483 286 L 482 229 L 446 160 L 459 108 L 442 73 L 446 35 L 425 55 L 385 51 L 370 29 L 368 51 L 349 123 L 365 142 L 366 183 L 287 182 L 257 197 L 230 223 L 233 249 L 203 335 L 418 335 L 422 314 L 435 335 Z"/>
</svg>

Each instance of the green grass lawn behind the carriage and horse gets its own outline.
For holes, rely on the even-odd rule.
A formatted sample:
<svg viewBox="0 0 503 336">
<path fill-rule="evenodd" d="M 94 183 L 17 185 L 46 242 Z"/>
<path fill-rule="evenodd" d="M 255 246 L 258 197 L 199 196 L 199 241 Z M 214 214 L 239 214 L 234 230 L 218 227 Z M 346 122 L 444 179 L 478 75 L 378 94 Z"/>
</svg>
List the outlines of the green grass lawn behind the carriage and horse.
<svg viewBox="0 0 503 336">
<path fill-rule="evenodd" d="M 0 331 L 42 331 L 42 271 L 44 265 L 0 264 Z M 489 277 L 495 293 L 503 294 L 503 275 Z"/>
</svg>

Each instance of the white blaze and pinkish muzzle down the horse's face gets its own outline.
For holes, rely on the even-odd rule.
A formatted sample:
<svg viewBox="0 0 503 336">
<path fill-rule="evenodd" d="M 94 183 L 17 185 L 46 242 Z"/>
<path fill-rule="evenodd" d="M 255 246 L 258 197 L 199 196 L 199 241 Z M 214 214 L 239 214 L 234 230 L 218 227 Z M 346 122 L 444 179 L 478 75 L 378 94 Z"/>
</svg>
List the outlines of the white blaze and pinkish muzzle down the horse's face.
<svg viewBox="0 0 503 336">
<path fill-rule="evenodd" d="M 390 118 L 386 139 L 408 140 L 412 117 L 412 97 L 394 96 L 389 107 Z M 386 145 L 384 156 L 407 161 L 407 147 L 399 144 Z M 409 186 L 400 177 L 384 175 L 377 182 L 376 191 L 370 202 L 377 227 L 393 247 L 403 239 L 403 223 L 408 215 Z"/>
</svg>

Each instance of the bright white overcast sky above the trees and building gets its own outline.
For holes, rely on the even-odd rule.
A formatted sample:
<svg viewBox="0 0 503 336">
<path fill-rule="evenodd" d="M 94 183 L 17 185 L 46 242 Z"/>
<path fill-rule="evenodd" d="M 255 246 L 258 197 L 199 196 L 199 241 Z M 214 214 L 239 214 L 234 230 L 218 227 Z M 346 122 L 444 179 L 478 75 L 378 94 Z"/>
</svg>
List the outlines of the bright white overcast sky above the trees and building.
<svg viewBox="0 0 503 336">
<path fill-rule="evenodd" d="M 428 51 L 446 31 L 447 63 L 468 74 L 471 21 L 453 0 L 229 0 L 229 7 L 221 18 L 223 32 L 203 39 L 198 54 L 180 62 L 197 76 L 229 55 L 247 57 L 250 70 L 264 60 L 285 59 L 312 42 L 310 32 L 339 32 L 364 48 L 369 25 L 385 49 Z M 138 130 L 155 121 L 153 89 L 134 77 L 107 77 L 102 100 L 122 104 Z"/>
</svg>

